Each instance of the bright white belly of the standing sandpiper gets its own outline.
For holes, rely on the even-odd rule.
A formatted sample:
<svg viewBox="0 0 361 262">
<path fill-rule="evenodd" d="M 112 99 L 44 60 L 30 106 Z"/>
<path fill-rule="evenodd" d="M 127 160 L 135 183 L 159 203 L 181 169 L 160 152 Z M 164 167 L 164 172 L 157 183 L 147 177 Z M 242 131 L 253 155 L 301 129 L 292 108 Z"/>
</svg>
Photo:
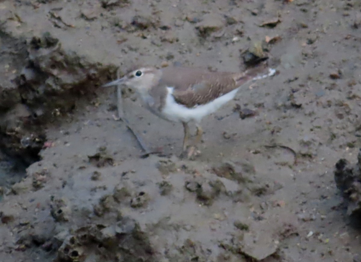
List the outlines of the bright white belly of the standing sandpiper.
<svg viewBox="0 0 361 262">
<path fill-rule="evenodd" d="M 187 108 L 184 105 L 177 104 L 172 95 L 173 87 L 167 87 L 168 95 L 166 97 L 166 105 L 160 112 L 161 117 L 173 122 L 200 122 L 201 119 L 209 114 L 216 112 L 222 105 L 232 100 L 236 95 L 238 88 L 231 92 L 220 96 L 204 105 L 197 105 L 193 108 Z"/>
</svg>

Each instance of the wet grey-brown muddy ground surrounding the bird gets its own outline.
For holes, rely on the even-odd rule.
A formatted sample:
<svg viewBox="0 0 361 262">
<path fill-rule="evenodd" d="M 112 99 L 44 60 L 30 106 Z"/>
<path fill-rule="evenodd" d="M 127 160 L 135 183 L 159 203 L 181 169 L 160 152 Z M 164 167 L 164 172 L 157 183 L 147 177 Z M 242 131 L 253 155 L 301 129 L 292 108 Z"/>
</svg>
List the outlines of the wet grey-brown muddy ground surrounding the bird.
<svg viewBox="0 0 361 262">
<path fill-rule="evenodd" d="M 0 261 L 360 261 L 334 180 L 361 147 L 360 8 L 1 1 Z M 130 125 L 163 152 L 141 158 L 99 88 L 137 64 L 240 71 L 260 46 L 278 74 L 203 120 L 193 160 L 180 124 L 127 91 Z"/>
</svg>

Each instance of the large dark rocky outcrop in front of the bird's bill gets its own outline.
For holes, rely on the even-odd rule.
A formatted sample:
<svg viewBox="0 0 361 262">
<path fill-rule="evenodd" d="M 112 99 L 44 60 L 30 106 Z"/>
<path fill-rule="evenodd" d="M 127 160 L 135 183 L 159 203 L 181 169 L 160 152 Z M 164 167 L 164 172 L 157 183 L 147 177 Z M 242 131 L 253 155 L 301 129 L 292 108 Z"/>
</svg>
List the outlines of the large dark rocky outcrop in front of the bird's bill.
<svg viewBox="0 0 361 262">
<path fill-rule="evenodd" d="M 0 34 L 0 146 L 32 162 L 45 141 L 41 126 L 71 112 L 116 68 L 64 50 L 50 33 L 32 39 Z"/>
</svg>

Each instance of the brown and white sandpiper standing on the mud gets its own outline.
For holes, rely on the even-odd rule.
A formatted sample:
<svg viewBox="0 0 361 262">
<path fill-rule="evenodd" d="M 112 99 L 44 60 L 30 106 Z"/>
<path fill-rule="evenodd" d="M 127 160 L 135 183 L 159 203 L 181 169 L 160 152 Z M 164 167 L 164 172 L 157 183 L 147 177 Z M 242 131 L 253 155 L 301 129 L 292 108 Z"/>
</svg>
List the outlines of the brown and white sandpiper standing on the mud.
<svg viewBox="0 0 361 262">
<path fill-rule="evenodd" d="M 275 69 L 264 63 L 243 72 L 211 72 L 205 68 L 168 66 L 140 67 L 103 87 L 123 85 L 135 90 L 145 107 L 158 117 L 183 125 L 183 152 L 188 148 L 191 121 L 201 141 L 202 118 L 216 112 L 247 82 L 273 76 Z"/>
</svg>

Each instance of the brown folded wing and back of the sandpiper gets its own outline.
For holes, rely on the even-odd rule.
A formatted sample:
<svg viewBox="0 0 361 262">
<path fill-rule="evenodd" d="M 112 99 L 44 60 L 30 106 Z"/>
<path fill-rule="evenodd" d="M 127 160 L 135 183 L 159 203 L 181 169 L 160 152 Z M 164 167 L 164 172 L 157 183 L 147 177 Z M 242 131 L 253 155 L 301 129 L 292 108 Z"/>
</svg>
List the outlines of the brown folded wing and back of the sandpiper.
<svg viewBox="0 0 361 262">
<path fill-rule="evenodd" d="M 209 72 L 205 69 L 184 67 L 164 68 L 162 85 L 173 87 L 175 101 L 192 108 L 238 88 L 255 77 L 258 71 L 260 68 L 243 73 Z"/>
</svg>

